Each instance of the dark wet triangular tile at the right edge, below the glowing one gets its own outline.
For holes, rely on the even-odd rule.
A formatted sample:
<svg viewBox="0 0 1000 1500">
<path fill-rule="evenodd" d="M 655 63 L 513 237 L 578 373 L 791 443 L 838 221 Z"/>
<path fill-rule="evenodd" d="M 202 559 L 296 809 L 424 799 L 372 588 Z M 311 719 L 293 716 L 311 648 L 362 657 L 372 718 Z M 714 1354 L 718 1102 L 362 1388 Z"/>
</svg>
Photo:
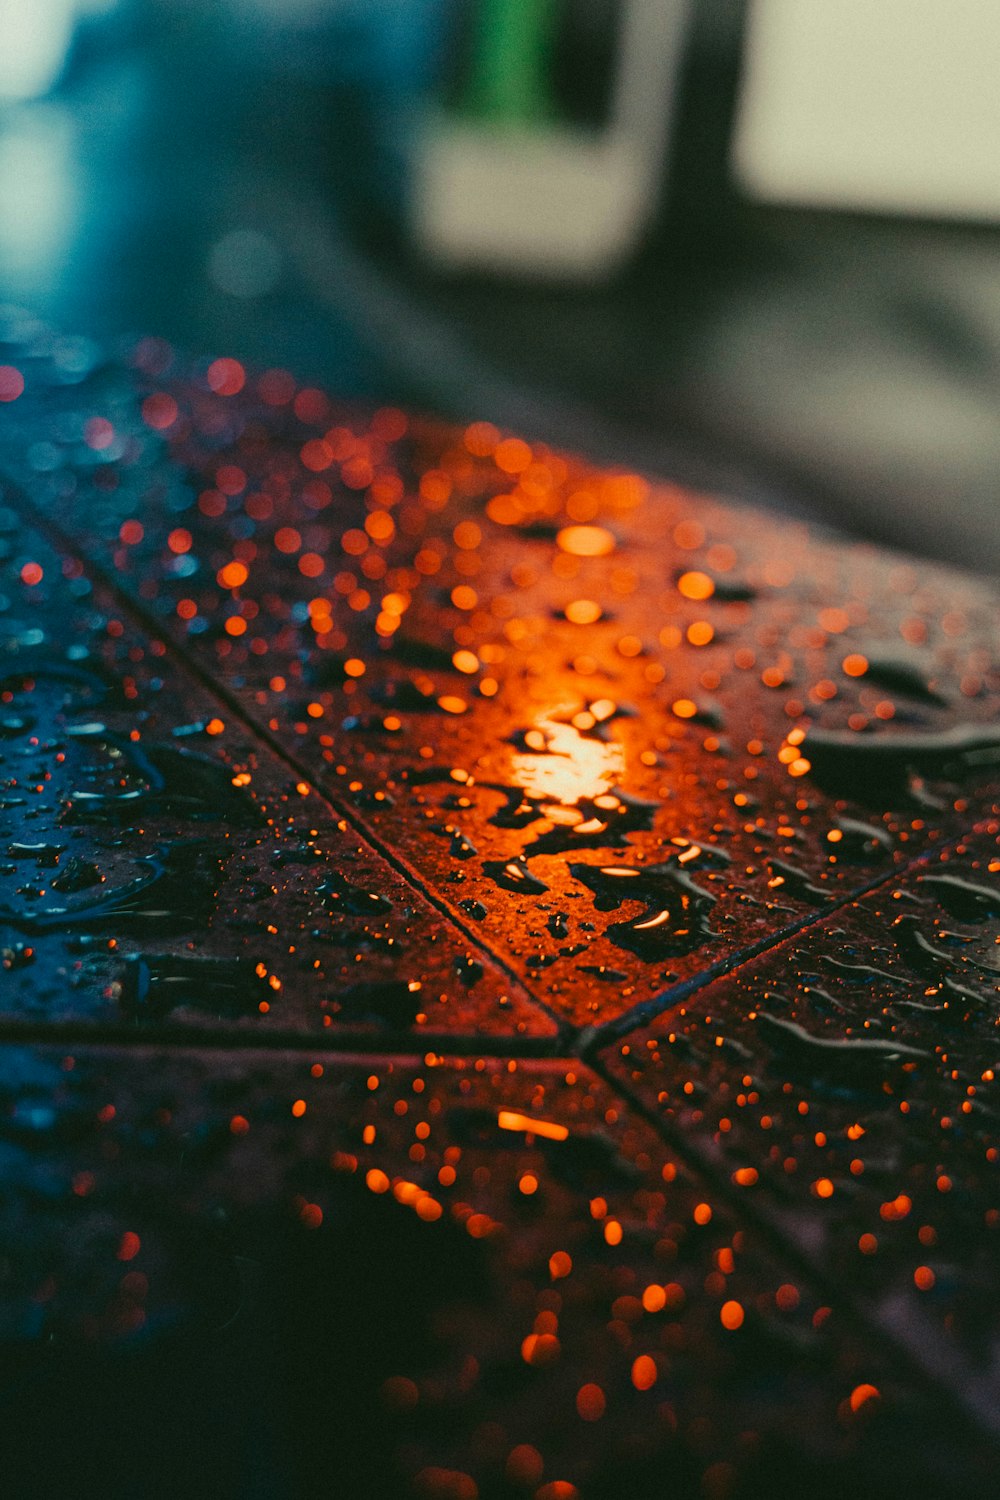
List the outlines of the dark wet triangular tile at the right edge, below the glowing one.
<svg viewBox="0 0 1000 1500">
<path fill-rule="evenodd" d="M 996 1419 L 1000 822 L 610 1046 L 610 1076 Z"/>
</svg>

